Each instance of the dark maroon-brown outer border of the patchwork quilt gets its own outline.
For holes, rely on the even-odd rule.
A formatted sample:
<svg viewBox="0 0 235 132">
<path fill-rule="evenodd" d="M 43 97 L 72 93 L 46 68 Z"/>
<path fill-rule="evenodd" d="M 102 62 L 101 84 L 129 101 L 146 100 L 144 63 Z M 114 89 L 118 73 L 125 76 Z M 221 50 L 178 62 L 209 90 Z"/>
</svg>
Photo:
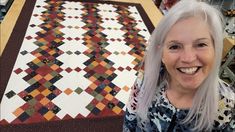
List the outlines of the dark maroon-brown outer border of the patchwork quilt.
<svg viewBox="0 0 235 132">
<path fill-rule="evenodd" d="M 108 3 L 108 4 L 121 4 L 121 5 L 131 5 L 135 6 L 139 11 L 141 18 L 143 19 L 148 31 L 152 33 L 154 30 L 154 25 L 146 14 L 144 8 L 139 3 L 128 3 L 128 2 L 117 2 L 117 1 L 101 1 L 101 0 L 68 0 L 68 1 L 79 1 L 79 2 L 92 2 L 92 3 Z M 14 67 L 17 55 L 19 53 L 21 44 L 24 40 L 26 34 L 27 26 L 30 22 L 31 15 L 35 6 L 36 0 L 26 0 L 25 4 L 21 10 L 21 13 L 16 21 L 15 27 L 13 28 L 12 34 L 6 44 L 6 47 L 0 57 L 0 100 L 4 95 L 8 80 L 11 75 L 11 71 Z M 20 26 L 19 26 L 20 25 Z M 12 52 L 14 51 L 14 52 Z M 9 59 L 11 58 L 11 59 Z M 111 122 L 110 122 L 111 121 Z M 0 125 L 4 132 L 13 131 L 24 131 L 24 132 L 35 132 L 35 131 L 95 131 L 100 130 L 105 131 L 121 131 L 123 123 L 123 116 L 112 116 L 112 117 L 102 117 L 92 119 L 68 119 L 60 121 L 49 121 L 49 122 L 39 122 L 31 124 L 4 124 Z"/>
</svg>

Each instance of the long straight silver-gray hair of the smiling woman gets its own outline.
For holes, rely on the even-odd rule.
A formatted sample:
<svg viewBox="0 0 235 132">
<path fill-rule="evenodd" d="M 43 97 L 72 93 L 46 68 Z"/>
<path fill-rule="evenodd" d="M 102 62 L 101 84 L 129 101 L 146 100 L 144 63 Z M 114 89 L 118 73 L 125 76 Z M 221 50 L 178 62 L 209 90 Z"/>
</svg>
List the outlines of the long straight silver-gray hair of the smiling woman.
<svg viewBox="0 0 235 132">
<path fill-rule="evenodd" d="M 210 29 L 215 50 L 215 61 L 208 77 L 199 86 L 187 117 L 182 123 L 190 123 L 196 119 L 193 130 L 210 130 L 218 110 L 219 100 L 219 67 L 223 49 L 223 17 L 221 13 L 211 5 L 195 0 L 181 0 L 162 18 L 157 28 L 153 31 L 146 51 L 144 63 L 144 81 L 141 86 L 138 104 L 138 115 L 147 119 L 147 111 L 158 91 L 160 78 L 167 80 L 160 74 L 163 43 L 171 27 L 178 21 L 189 17 L 199 16 Z M 193 25 L 192 25 L 193 26 Z M 165 72 L 164 74 L 168 74 Z M 200 115 L 200 116 L 199 116 Z"/>
</svg>

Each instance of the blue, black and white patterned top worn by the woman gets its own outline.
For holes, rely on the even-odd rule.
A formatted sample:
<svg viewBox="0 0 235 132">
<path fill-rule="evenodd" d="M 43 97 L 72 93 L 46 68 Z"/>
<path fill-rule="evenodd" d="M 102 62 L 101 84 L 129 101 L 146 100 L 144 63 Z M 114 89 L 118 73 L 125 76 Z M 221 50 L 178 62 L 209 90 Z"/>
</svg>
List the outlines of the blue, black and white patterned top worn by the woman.
<svg viewBox="0 0 235 132">
<path fill-rule="evenodd" d="M 166 83 L 160 85 L 160 91 L 148 109 L 148 119 L 143 120 L 136 114 L 137 96 L 143 80 L 139 74 L 127 104 L 124 117 L 123 132 L 190 132 L 190 125 L 180 124 L 189 112 L 188 109 L 175 108 L 165 95 Z M 235 94 L 228 85 L 220 85 L 220 100 L 218 118 L 215 120 L 213 131 L 235 131 Z M 191 123 L 193 124 L 193 123 Z"/>
</svg>

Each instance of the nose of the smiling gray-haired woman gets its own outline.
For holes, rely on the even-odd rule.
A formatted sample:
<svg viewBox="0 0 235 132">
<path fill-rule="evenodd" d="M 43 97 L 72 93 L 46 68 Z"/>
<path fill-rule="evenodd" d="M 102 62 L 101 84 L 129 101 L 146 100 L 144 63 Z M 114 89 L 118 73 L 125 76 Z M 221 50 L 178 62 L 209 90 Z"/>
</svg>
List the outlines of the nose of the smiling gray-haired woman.
<svg viewBox="0 0 235 132">
<path fill-rule="evenodd" d="M 192 48 L 184 49 L 182 52 L 180 58 L 184 63 L 191 63 L 197 58 L 196 51 Z"/>
</svg>

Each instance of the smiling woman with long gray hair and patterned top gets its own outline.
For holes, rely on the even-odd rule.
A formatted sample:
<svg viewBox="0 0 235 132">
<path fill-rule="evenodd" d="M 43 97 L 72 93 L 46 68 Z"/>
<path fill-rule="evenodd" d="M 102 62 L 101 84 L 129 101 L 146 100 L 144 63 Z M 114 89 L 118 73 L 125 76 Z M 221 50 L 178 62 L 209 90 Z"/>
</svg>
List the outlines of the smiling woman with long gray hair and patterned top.
<svg viewBox="0 0 235 132">
<path fill-rule="evenodd" d="M 123 131 L 234 131 L 235 94 L 219 79 L 222 16 L 181 0 L 152 33 Z"/>
</svg>

